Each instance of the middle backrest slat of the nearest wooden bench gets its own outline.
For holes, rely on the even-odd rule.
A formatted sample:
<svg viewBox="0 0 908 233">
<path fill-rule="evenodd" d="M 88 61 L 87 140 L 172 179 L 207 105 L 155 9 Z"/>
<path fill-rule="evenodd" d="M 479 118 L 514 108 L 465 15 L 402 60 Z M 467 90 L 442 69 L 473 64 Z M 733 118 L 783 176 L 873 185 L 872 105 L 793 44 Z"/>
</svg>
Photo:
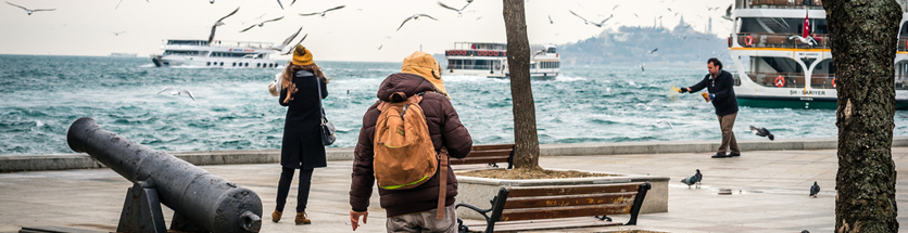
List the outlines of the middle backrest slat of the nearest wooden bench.
<svg viewBox="0 0 908 233">
<path fill-rule="evenodd" d="M 508 198 L 504 204 L 505 209 L 519 208 L 543 208 L 562 206 L 585 206 L 602 204 L 633 205 L 636 192 L 583 194 L 568 196 L 534 196 Z"/>
</svg>

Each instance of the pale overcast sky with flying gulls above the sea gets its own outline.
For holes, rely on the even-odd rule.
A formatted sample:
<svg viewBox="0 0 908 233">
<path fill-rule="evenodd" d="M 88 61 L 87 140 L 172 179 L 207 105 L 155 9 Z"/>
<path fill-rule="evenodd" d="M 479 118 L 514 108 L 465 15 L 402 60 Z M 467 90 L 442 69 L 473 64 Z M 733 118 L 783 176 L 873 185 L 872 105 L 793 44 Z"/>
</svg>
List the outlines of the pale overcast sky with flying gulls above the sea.
<svg viewBox="0 0 908 233">
<path fill-rule="evenodd" d="M 0 5 L 0 53 L 53 55 L 109 55 L 112 52 L 138 53 L 147 57 L 161 53 L 166 39 L 207 39 L 212 24 L 237 7 L 239 12 L 217 28 L 216 40 L 280 42 L 300 26 L 308 34 L 303 46 L 316 61 L 400 62 L 417 51 L 442 53 L 454 42 L 505 42 L 502 0 L 475 0 L 462 17 L 439 7 L 437 0 L 5 0 L 28 9 L 56 9 L 26 12 L 9 4 Z M 465 0 L 442 0 L 461 8 Z M 117 4 L 119 7 L 117 8 Z M 728 37 L 731 23 L 720 15 L 731 0 L 528 0 L 527 26 L 530 43 L 566 43 L 598 35 L 620 26 L 653 26 L 663 16 L 667 28 L 684 21 L 705 31 L 709 16 L 712 33 Z M 300 16 L 338 5 L 326 17 Z M 613 11 L 613 8 L 618 5 Z M 708 11 L 707 8 L 719 10 Z M 116 8 L 116 9 L 114 9 Z M 669 9 L 671 9 L 669 11 Z M 603 28 L 584 25 L 571 15 L 600 22 L 614 17 Z M 401 23 L 413 14 L 429 14 L 439 21 L 420 18 Z M 676 16 L 676 13 L 678 16 Z M 261 15 L 262 20 L 254 20 Z M 634 15 L 636 14 L 636 15 Z M 551 15 L 554 24 L 548 23 Z M 251 23 L 285 16 L 283 20 L 239 30 Z M 245 23 L 245 24 L 243 24 Z M 114 33 L 125 31 L 119 36 Z M 382 47 L 381 50 L 378 48 Z M 286 60 L 287 56 L 278 56 Z"/>
</svg>

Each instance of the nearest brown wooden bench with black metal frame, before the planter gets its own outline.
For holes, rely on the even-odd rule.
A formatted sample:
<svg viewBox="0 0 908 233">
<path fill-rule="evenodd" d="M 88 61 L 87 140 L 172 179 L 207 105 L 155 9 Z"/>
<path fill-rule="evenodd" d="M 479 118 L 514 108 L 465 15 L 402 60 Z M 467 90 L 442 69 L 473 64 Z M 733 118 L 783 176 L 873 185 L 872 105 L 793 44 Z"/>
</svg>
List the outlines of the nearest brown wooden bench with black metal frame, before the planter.
<svg viewBox="0 0 908 233">
<path fill-rule="evenodd" d="M 455 208 L 466 207 L 482 215 L 485 218 L 487 233 L 620 225 L 621 223 L 613 223 L 611 218 L 607 216 L 623 213 L 630 213 L 630 220 L 625 225 L 635 225 L 640 207 L 650 189 L 650 182 L 502 187 L 492 198 L 492 207 L 489 209 L 463 203 L 457 204 Z M 489 212 L 491 216 L 487 215 Z M 557 221 L 540 221 L 573 217 L 596 217 L 600 220 L 589 218 L 560 224 Z M 607 222 L 604 221 L 606 219 Z M 502 222 L 497 229 L 496 222 Z M 462 219 L 458 218 L 457 223 L 459 232 L 469 231 Z"/>
</svg>

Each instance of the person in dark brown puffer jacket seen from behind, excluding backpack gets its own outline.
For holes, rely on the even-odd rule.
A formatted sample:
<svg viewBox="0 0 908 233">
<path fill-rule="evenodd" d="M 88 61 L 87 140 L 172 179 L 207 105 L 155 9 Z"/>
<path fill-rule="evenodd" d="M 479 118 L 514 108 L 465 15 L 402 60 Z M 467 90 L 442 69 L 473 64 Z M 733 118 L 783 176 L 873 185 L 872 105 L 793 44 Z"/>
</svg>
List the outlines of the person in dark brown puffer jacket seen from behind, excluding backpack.
<svg viewBox="0 0 908 233">
<path fill-rule="evenodd" d="M 431 61 L 429 61 L 431 60 Z M 434 64 L 432 66 L 431 64 Z M 429 134 L 436 152 L 442 146 L 447 148 L 449 156 L 464 158 L 472 147 L 472 139 L 467 128 L 461 124 L 461 118 L 451 101 L 440 94 L 437 85 L 429 81 L 429 78 L 438 79 L 441 82 L 441 73 L 438 63 L 431 55 L 417 52 L 404 60 L 405 73 L 398 73 L 384 79 L 378 88 L 378 99 L 391 102 L 388 98 L 391 93 L 403 92 L 407 96 L 425 92 L 419 106 L 426 115 L 426 124 L 429 127 Z M 420 76 L 424 72 L 409 72 L 414 69 L 439 69 L 429 72 L 434 77 Z M 436 75 L 438 74 L 438 75 Z M 443 87 L 443 86 L 442 86 Z M 375 144 L 375 125 L 381 114 L 378 103 L 369 106 L 363 116 L 363 128 L 360 130 L 360 141 L 356 143 L 353 159 L 353 182 L 350 186 L 350 221 L 353 231 L 358 226 L 360 217 L 366 223 L 368 217 L 369 196 L 371 196 L 375 184 L 373 170 Z M 439 171 L 441 169 L 438 169 Z M 457 195 L 457 179 L 449 166 L 446 198 L 444 203 L 444 219 L 437 220 L 437 205 L 439 199 L 439 174 L 436 173 L 426 183 L 409 190 L 378 190 L 381 208 L 384 208 L 388 220 L 386 229 L 388 232 L 456 232 L 457 220 L 454 213 L 454 196 Z"/>
</svg>

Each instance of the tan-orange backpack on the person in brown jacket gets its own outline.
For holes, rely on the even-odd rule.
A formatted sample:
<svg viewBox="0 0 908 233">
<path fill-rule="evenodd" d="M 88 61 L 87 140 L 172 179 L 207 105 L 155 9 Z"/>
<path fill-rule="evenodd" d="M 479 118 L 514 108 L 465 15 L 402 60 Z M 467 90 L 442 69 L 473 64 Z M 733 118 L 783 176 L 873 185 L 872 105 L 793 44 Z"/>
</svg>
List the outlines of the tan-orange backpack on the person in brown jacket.
<svg viewBox="0 0 908 233">
<path fill-rule="evenodd" d="M 391 94 L 406 98 L 396 92 Z M 413 95 L 404 102 L 381 102 L 375 125 L 375 179 L 384 190 L 406 190 L 425 183 L 438 169 L 438 156 L 426 115 L 419 107 L 423 100 Z"/>
</svg>

